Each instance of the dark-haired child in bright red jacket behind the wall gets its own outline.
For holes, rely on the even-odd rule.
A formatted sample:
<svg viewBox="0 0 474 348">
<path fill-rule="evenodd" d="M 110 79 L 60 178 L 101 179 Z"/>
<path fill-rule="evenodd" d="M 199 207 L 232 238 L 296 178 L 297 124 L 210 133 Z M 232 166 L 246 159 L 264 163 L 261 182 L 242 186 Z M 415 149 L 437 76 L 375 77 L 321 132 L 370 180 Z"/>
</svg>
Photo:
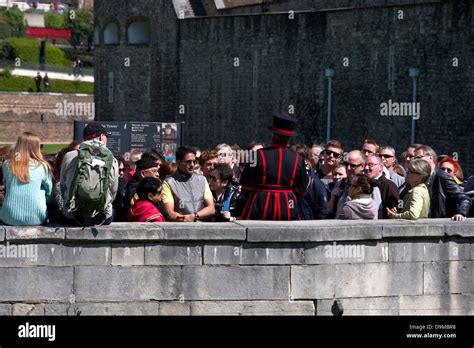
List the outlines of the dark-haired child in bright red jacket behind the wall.
<svg viewBox="0 0 474 348">
<path fill-rule="evenodd" d="M 134 201 L 128 211 L 129 222 L 164 222 L 165 219 L 155 203 L 161 201 L 161 180 L 146 177 L 137 187 L 138 200 Z"/>
</svg>

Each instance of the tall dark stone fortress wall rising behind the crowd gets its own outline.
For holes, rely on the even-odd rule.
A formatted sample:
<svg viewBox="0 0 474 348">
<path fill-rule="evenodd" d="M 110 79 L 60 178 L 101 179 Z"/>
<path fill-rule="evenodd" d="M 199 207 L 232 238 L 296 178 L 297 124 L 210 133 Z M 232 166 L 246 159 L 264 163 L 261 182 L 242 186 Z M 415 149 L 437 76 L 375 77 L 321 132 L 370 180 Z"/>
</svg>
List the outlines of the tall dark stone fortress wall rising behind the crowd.
<svg viewBox="0 0 474 348">
<path fill-rule="evenodd" d="M 296 13 L 294 19 L 285 12 L 291 4 L 303 10 L 296 5 L 309 2 L 323 8 Z M 365 8 L 358 6 L 367 2 L 351 1 L 359 5 L 344 10 L 325 8 L 329 3 L 344 8 L 349 1 L 269 6 L 277 10 L 279 3 L 287 6 L 281 14 L 178 20 L 171 2 L 98 2 L 99 27 L 117 19 L 121 38 L 134 16 L 148 17 L 152 24 L 148 46 L 122 42 L 95 50 L 98 117 L 183 121 L 189 145 L 213 147 L 269 141 L 272 114 L 294 111 L 299 120 L 295 141 L 323 142 L 325 69 L 332 67 L 332 137 L 348 150 L 374 138 L 400 154 L 410 143 L 411 118 L 381 116 L 380 105 L 411 102 L 408 72 L 418 67 L 416 141 L 457 157 L 467 173 L 474 172 L 473 138 L 467 131 L 474 127 L 471 1 L 374 0 Z M 124 66 L 126 58 L 130 67 Z M 114 75 L 113 102 L 108 100 L 109 73 Z"/>
</svg>

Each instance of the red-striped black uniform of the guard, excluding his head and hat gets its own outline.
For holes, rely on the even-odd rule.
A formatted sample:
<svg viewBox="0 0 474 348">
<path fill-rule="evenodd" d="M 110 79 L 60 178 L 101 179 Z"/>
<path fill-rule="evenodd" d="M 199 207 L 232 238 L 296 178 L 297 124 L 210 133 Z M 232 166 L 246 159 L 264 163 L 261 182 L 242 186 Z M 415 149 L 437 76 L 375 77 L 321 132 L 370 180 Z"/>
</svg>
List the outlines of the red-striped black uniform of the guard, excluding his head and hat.
<svg viewBox="0 0 474 348">
<path fill-rule="evenodd" d="M 304 159 L 286 146 L 257 151 L 257 164 L 248 163 L 240 184 L 245 206 L 242 220 L 301 220 L 298 199 L 308 186 Z"/>
</svg>

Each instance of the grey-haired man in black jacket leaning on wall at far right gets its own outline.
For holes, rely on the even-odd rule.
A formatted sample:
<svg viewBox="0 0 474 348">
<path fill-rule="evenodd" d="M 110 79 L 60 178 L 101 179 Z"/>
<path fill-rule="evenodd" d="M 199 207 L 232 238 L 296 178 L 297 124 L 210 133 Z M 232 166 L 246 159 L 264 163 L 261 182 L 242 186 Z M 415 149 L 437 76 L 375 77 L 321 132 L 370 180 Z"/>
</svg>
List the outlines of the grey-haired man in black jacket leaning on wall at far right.
<svg viewBox="0 0 474 348">
<path fill-rule="evenodd" d="M 421 145 L 415 149 L 414 158 L 424 159 L 431 166 L 428 185 L 431 200 L 430 217 L 465 221 L 471 208 L 471 200 L 448 173 L 437 167 L 436 152 L 429 146 Z"/>
</svg>

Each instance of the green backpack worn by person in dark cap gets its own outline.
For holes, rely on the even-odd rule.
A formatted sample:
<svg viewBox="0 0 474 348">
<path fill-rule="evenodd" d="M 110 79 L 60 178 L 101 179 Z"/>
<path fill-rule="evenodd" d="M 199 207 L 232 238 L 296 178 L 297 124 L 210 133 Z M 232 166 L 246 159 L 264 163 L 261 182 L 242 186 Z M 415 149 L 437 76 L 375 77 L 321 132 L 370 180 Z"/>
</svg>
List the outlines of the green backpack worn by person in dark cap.
<svg viewBox="0 0 474 348">
<path fill-rule="evenodd" d="M 81 226 L 102 224 L 114 156 L 105 146 L 82 144 L 69 191 L 69 211 Z"/>
</svg>

